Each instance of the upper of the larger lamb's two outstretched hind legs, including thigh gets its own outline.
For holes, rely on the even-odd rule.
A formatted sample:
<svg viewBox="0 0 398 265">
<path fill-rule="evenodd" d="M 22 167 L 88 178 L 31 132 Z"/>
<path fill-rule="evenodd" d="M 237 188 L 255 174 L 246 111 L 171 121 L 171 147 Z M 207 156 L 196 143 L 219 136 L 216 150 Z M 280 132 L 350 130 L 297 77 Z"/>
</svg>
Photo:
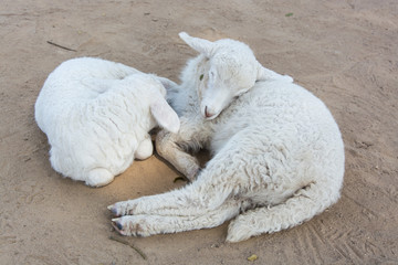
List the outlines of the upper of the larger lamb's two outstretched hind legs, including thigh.
<svg viewBox="0 0 398 265">
<path fill-rule="evenodd" d="M 136 214 L 199 215 L 214 210 L 248 187 L 245 158 L 239 147 L 221 150 L 200 172 L 198 179 L 182 189 L 164 194 L 115 203 L 108 209 L 117 216 Z M 233 167 L 226 161 L 234 161 Z"/>
</svg>

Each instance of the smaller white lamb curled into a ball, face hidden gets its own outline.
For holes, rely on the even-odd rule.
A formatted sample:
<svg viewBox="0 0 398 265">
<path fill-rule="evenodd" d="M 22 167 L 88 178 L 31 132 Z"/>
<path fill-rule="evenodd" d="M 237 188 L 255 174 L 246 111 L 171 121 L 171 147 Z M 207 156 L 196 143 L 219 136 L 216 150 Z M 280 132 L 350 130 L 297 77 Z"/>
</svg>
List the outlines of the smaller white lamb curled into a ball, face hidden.
<svg viewBox="0 0 398 265">
<path fill-rule="evenodd" d="M 65 177 L 101 187 L 135 158 L 148 158 L 151 128 L 179 129 L 160 82 L 174 84 L 101 59 L 62 63 L 35 103 L 35 120 L 51 145 L 52 167 Z"/>
</svg>

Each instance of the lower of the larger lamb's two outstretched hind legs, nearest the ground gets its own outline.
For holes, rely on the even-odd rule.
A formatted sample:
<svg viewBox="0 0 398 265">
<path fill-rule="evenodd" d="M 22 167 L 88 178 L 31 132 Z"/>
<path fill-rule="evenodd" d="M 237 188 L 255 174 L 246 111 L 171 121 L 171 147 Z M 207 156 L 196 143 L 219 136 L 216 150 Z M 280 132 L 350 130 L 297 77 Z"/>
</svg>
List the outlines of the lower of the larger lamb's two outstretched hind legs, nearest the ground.
<svg viewBox="0 0 398 265">
<path fill-rule="evenodd" d="M 123 235 L 149 236 L 218 226 L 239 214 L 241 202 L 229 200 L 216 210 L 200 215 L 126 215 L 113 220 Z"/>
</svg>

